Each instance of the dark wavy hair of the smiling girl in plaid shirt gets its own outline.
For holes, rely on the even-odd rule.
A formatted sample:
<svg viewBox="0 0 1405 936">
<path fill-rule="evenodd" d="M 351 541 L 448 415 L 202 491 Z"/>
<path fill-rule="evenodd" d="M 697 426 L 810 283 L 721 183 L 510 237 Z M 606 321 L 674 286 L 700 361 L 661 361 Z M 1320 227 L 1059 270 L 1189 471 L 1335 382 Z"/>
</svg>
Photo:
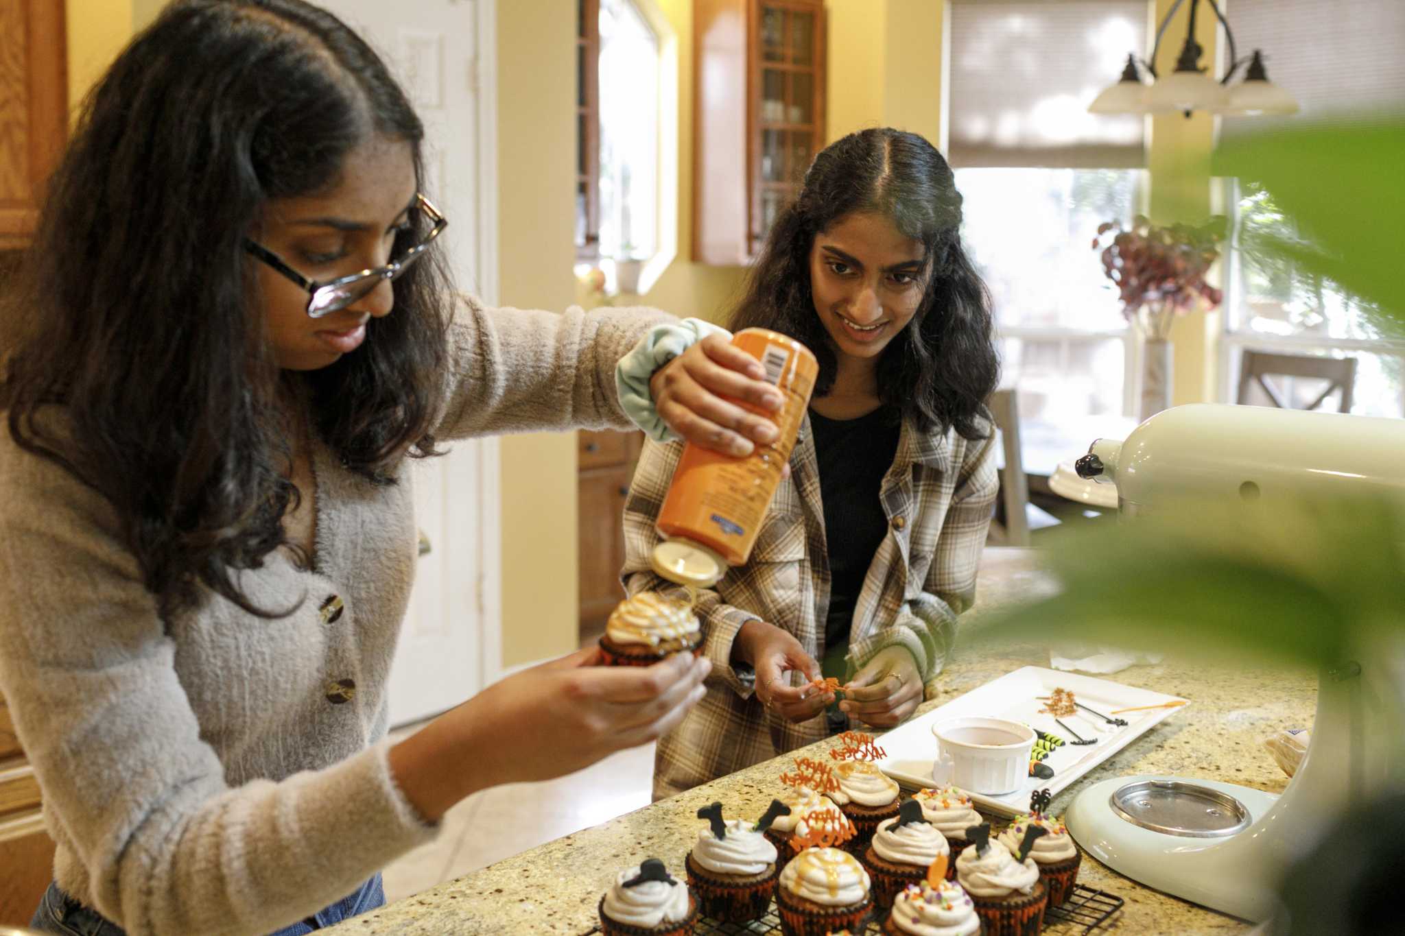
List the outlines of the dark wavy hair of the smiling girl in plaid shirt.
<svg viewBox="0 0 1405 936">
<path fill-rule="evenodd" d="M 811 297 L 809 254 L 818 234 L 854 212 L 891 219 L 924 248 L 926 292 L 878 358 L 880 399 L 923 431 L 984 438 L 978 417 L 1000 373 L 991 293 L 961 247 L 951 167 L 916 133 L 867 129 L 821 150 L 771 227 L 731 327 L 773 328 L 809 347 L 819 359 L 815 396 L 828 393 L 836 359 Z"/>
</svg>

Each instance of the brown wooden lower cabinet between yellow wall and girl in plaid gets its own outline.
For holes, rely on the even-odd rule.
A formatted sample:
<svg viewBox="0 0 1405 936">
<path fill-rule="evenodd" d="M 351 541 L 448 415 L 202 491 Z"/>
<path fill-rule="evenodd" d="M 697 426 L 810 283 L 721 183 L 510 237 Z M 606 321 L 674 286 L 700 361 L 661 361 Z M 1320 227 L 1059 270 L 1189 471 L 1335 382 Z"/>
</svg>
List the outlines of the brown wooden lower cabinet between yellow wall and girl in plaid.
<svg viewBox="0 0 1405 936">
<path fill-rule="evenodd" d="M 580 522 L 580 634 L 604 630 L 610 612 L 624 598 L 624 501 L 643 432 L 577 434 Z"/>
</svg>

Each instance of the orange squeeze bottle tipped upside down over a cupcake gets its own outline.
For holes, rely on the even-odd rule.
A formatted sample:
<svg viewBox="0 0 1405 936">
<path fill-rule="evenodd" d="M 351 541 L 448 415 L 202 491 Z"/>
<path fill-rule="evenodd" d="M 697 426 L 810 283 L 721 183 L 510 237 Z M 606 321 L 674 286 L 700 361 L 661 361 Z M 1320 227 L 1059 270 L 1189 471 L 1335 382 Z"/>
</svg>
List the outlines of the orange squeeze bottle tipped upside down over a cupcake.
<svg viewBox="0 0 1405 936">
<path fill-rule="evenodd" d="M 750 557 L 819 375 L 809 348 L 777 331 L 745 328 L 732 344 L 762 362 L 766 379 L 785 401 L 769 413 L 732 400 L 770 418 L 778 429 L 773 443 L 759 445 L 750 455 L 722 455 L 691 442 L 683 448 L 659 512 L 658 529 L 665 542 L 655 547 L 651 564 L 663 578 L 688 588 L 708 588 L 726 574 L 728 566 L 742 566 Z"/>
</svg>

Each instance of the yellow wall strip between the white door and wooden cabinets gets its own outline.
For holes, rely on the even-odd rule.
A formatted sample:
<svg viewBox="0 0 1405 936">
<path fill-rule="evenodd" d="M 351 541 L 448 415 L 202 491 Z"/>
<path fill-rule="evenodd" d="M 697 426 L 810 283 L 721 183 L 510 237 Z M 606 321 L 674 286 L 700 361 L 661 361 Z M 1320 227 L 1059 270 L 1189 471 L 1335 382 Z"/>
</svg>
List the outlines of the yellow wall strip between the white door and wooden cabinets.
<svg viewBox="0 0 1405 936">
<path fill-rule="evenodd" d="M 573 302 L 575 3 L 497 4 L 497 275 L 503 305 Z M 502 441 L 503 665 L 577 643 L 575 435 Z"/>
</svg>

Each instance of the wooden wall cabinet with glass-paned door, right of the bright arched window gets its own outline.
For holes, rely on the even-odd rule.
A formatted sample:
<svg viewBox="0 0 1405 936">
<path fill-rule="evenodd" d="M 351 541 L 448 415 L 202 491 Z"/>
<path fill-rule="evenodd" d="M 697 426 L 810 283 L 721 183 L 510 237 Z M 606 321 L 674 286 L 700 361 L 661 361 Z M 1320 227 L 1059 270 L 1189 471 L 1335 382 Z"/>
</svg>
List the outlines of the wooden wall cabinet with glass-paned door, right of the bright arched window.
<svg viewBox="0 0 1405 936">
<path fill-rule="evenodd" d="M 693 258 L 747 264 L 825 146 L 825 6 L 697 0 L 693 17 Z"/>
</svg>

